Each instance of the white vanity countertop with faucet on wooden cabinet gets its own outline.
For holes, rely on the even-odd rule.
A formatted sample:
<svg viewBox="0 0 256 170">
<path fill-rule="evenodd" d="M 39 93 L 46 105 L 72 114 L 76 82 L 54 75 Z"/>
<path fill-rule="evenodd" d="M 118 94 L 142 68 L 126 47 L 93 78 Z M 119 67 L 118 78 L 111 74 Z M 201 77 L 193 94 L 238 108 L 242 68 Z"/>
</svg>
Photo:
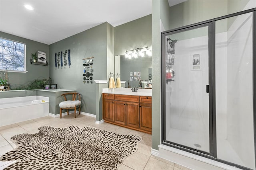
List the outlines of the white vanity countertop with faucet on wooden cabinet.
<svg viewBox="0 0 256 170">
<path fill-rule="evenodd" d="M 152 96 L 152 89 L 139 88 L 137 92 L 132 92 L 132 88 L 103 88 L 102 93 L 134 95 L 134 96 Z"/>
</svg>

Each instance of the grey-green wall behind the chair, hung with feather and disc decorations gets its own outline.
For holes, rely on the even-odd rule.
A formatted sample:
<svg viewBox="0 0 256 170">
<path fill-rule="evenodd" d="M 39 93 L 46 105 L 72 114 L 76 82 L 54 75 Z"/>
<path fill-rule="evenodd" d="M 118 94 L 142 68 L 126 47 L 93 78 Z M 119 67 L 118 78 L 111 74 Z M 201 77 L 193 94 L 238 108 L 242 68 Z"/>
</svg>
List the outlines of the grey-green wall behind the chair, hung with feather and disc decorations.
<svg viewBox="0 0 256 170">
<path fill-rule="evenodd" d="M 82 94 L 81 111 L 86 113 L 96 114 L 96 86 L 94 81 L 84 84 L 82 59 L 93 56 L 93 80 L 106 80 L 107 26 L 110 27 L 108 23 L 102 23 L 50 45 L 50 77 L 53 83 L 58 84 L 58 88 L 76 90 Z M 55 69 L 55 53 L 66 49 L 70 49 L 70 68 Z"/>
</svg>

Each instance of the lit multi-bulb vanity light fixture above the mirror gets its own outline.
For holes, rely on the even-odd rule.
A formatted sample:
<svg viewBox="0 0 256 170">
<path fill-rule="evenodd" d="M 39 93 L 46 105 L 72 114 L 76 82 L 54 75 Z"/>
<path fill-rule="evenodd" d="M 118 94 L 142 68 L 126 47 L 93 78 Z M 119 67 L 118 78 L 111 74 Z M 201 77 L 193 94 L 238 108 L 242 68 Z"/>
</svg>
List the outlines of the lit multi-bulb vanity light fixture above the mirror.
<svg viewBox="0 0 256 170">
<path fill-rule="evenodd" d="M 125 52 L 125 58 L 128 59 L 137 59 L 138 56 L 145 57 L 145 55 L 152 56 L 152 50 L 148 47 L 136 48 Z"/>
</svg>

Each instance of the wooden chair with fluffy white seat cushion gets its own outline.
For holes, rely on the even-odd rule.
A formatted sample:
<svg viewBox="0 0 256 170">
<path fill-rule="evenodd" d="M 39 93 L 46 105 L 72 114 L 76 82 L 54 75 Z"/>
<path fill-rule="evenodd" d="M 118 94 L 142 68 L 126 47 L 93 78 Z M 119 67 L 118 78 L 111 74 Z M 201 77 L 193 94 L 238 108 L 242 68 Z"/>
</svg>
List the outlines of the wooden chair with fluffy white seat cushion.
<svg viewBox="0 0 256 170">
<path fill-rule="evenodd" d="M 67 97 L 72 95 L 72 100 L 67 100 Z M 61 118 L 61 113 L 62 109 L 66 109 L 67 113 L 69 109 L 74 109 L 74 117 L 76 118 L 76 107 L 79 109 L 79 114 L 80 114 L 80 109 L 81 109 L 81 96 L 80 93 L 64 93 L 61 96 L 64 96 L 65 101 L 60 102 L 59 107 L 60 107 L 60 118 Z"/>
</svg>

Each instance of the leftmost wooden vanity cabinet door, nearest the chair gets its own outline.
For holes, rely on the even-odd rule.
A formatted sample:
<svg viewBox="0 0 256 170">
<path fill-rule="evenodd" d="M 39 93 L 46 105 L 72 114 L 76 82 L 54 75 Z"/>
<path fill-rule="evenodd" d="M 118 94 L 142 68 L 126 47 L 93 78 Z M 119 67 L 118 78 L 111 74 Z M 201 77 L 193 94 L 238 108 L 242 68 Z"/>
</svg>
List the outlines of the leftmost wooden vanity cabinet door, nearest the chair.
<svg viewBox="0 0 256 170">
<path fill-rule="evenodd" d="M 114 122 L 114 100 L 105 99 L 103 107 L 103 119 Z"/>
</svg>

